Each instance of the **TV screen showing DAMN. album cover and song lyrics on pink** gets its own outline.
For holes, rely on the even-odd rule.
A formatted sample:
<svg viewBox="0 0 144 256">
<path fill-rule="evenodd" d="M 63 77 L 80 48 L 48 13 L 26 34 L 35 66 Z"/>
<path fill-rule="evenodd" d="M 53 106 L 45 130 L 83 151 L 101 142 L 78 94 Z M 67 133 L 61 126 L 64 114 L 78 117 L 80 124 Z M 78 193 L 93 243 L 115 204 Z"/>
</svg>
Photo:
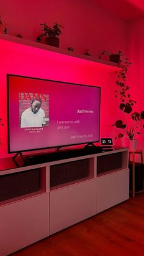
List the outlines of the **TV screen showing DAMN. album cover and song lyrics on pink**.
<svg viewBox="0 0 144 256">
<path fill-rule="evenodd" d="M 7 75 L 9 153 L 99 141 L 100 87 Z"/>
</svg>

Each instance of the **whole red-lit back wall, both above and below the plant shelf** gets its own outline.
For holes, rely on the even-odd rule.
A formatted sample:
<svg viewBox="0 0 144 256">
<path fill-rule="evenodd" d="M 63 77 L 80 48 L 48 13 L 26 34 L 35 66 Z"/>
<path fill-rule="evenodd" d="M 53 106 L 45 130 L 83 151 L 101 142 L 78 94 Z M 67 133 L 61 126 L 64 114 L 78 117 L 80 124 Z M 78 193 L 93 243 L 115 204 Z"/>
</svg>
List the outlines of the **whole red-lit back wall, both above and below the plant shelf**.
<svg viewBox="0 0 144 256">
<path fill-rule="evenodd" d="M 83 54 L 84 49 L 88 48 L 95 58 L 103 49 L 121 49 L 126 53 L 127 23 L 100 9 L 94 0 L 44 0 L 43 4 L 38 0 L 35 4 L 28 0 L 5 0 L 5 4 L 1 6 L 1 16 L 11 35 L 19 33 L 34 41 L 40 34 L 40 23 L 46 22 L 51 26 L 56 21 L 65 27 L 60 36 L 61 49 L 73 46 L 76 54 Z M 5 124 L 1 127 L 1 157 L 7 156 L 6 73 L 101 86 L 101 137 L 115 136 L 111 127 L 117 118 L 118 109 L 117 99 L 114 98 L 114 70 L 43 49 L 2 41 L 0 43 L 0 99 Z"/>
</svg>

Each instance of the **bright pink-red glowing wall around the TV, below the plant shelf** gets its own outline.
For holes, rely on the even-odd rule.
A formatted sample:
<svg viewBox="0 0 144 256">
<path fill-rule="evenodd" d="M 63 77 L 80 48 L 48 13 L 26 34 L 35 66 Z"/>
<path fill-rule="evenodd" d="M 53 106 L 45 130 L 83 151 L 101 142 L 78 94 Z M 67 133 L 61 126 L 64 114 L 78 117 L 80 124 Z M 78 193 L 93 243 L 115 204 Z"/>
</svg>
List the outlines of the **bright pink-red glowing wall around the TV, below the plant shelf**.
<svg viewBox="0 0 144 256">
<path fill-rule="evenodd" d="M 7 155 L 7 73 L 101 86 L 101 136 L 112 135 L 111 129 L 107 128 L 110 127 L 115 108 L 110 104 L 113 100 L 113 95 L 108 84 L 112 81 L 111 76 L 114 76 L 114 71 L 117 68 L 2 39 L 0 39 L 0 44 L 3 64 L 0 100 L 3 106 L 1 115 L 5 125 L 1 127 L 3 144 L 1 157 Z"/>
</svg>

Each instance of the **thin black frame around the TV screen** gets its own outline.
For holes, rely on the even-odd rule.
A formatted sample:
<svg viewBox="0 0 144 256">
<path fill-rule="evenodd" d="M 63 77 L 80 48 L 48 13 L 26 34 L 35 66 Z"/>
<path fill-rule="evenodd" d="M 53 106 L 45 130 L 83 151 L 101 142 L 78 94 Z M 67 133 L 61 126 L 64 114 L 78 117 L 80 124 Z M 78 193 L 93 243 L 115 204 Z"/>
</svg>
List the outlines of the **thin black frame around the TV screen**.
<svg viewBox="0 0 144 256">
<path fill-rule="evenodd" d="M 57 146 L 52 146 L 52 147 L 43 147 L 43 148 L 31 148 L 31 149 L 27 149 L 27 150 L 14 150 L 14 151 L 10 151 L 10 122 L 9 122 L 9 77 L 10 76 L 16 76 L 16 77 L 20 77 L 20 78 L 29 78 L 29 79 L 37 79 L 37 80 L 41 80 L 41 81 L 49 81 L 49 82 L 57 82 L 57 83 L 61 83 L 61 84 L 71 84 L 74 86 L 87 86 L 87 87 L 96 87 L 99 89 L 99 123 L 98 123 L 98 130 L 99 130 L 99 134 L 98 134 L 98 141 L 88 141 L 88 142 L 80 142 L 80 143 L 74 143 L 74 144 L 67 144 L 67 145 L 57 145 Z M 7 73 L 7 138 L 8 138 L 8 153 L 12 154 L 12 153 L 18 153 L 18 152 L 32 152 L 32 151 L 36 151 L 36 150 L 46 150 L 46 149 L 51 149 L 51 148 L 63 148 L 63 147 L 71 147 L 74 145 L 87 145 L 87 144 L 95 144 L 97 142 L 100 141 L 100 106 L 101 106 L 101 87 L 100 86 L 92 86 L 92 85 L 88 85 L 88 84 L 76 84 L 73 82 L 67 82 L 67 81 L 57 81 L 57 80 L 51 80 L 51 79 L 45 79 L 45 78 L 36 78 L 36 77 L 32 77 L 32 76 L 24 76 L 24 75 L 14 75 L 14 74 L 10 74 Z"/>
</svg>

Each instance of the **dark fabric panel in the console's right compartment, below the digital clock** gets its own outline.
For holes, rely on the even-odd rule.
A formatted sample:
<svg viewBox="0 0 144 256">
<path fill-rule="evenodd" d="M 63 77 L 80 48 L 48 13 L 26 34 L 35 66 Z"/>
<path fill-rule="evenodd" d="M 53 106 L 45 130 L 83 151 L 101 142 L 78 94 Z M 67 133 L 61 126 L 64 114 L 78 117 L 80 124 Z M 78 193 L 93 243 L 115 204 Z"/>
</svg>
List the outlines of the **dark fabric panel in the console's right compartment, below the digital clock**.
<svg viewBox="0 0 144 256">
<path fill-rule="evenodd" d="M 115 153 L 111 155 L 98 156 L 97 158 L 97 174 L 108 172 L 121 168 L 122 153 Z"/>
</svg>

